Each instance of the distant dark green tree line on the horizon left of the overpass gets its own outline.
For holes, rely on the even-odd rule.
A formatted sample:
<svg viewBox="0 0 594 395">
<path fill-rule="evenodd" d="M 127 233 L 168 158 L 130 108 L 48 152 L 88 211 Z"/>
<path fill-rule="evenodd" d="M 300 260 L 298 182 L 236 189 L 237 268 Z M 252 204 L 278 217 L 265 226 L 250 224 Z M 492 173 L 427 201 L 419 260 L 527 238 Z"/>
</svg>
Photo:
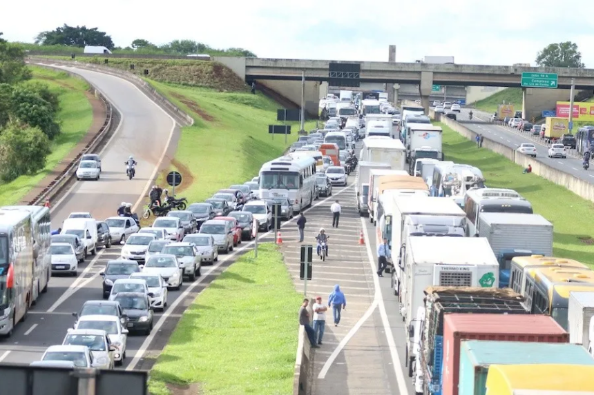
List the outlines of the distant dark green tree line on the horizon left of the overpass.
<svg viewBox="0 0 594 395">
<path fill-rule="evenodd" d="M 159 53 L 171 55 L 189 54 L 227 54 L 229 56 L 256 57 L 256 54 L 243 48 L 227 48 L 224 50 L 193 40 L 173 40 L 170 43 L 156 45 L 145 39 L 135 39 L 125 48 L 116 47 L 111 36 L 98 28 L 86 26 L 64 25 L 55 30 L 41 32 L 35 37 L 35 44 L 44 47 L 63 46 L 84 48 L 86 45 L 103 46 L 115 52 Z"/>
</svg>

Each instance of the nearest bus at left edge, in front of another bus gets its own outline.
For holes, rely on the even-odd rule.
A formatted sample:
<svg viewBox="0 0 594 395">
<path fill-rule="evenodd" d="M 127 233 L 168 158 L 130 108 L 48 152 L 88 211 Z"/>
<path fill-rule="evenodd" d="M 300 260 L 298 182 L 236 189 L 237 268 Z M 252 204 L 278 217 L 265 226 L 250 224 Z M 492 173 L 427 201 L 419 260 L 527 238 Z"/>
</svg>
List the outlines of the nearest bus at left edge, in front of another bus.
<svg viewBox="0 0 594 395">
<path fill-rule="evenodd" d="M 12 335 L 32 304 L 35 272 L 31 214 L 0 210 L 0 335 Z"/>
</svg>

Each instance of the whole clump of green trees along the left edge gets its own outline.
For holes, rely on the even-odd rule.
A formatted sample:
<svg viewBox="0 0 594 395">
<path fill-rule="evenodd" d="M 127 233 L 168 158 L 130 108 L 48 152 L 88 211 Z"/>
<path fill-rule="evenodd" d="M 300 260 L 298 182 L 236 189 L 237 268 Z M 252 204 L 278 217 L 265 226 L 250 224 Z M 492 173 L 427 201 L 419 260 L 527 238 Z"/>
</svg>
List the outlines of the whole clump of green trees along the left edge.
<svg viewBox="0 0 594 395">
<path fill-rule="evenodd" d="M 8 182 L 46 166 L 60 133 L 59 99 L 44 83 L 28 81 L 25 54 L 0 32 L 0 179 Z"/>
</svg>

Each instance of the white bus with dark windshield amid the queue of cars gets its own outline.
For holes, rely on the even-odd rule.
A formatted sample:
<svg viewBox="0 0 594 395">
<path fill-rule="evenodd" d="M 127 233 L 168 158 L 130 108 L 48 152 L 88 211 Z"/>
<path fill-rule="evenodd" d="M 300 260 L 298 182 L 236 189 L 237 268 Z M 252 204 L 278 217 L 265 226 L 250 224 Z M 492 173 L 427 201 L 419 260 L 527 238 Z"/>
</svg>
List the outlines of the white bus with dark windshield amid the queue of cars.
<svg viewBox="0 0 594 395">
<path fill-rule="evenodd" d="M 260 168 L 260 198 L 289 199 L 294 212 L 311 207 L 316 192 L 316 159 L 281 156 Z"/>
</svg>

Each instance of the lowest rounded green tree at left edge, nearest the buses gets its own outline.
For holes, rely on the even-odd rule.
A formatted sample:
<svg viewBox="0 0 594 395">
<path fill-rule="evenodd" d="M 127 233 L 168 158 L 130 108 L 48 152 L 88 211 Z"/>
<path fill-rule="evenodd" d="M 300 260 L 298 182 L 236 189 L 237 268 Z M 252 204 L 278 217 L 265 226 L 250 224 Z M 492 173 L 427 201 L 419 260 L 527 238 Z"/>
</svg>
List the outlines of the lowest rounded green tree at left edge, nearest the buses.
<svg viewBox="0 0 594 395">
<path fill-rule="evenodd" d="M 11 121 L 0 134 L 0 179 L 8 182 L 46 166 L 50 140 L 39 128 Z"/>
</svg>

